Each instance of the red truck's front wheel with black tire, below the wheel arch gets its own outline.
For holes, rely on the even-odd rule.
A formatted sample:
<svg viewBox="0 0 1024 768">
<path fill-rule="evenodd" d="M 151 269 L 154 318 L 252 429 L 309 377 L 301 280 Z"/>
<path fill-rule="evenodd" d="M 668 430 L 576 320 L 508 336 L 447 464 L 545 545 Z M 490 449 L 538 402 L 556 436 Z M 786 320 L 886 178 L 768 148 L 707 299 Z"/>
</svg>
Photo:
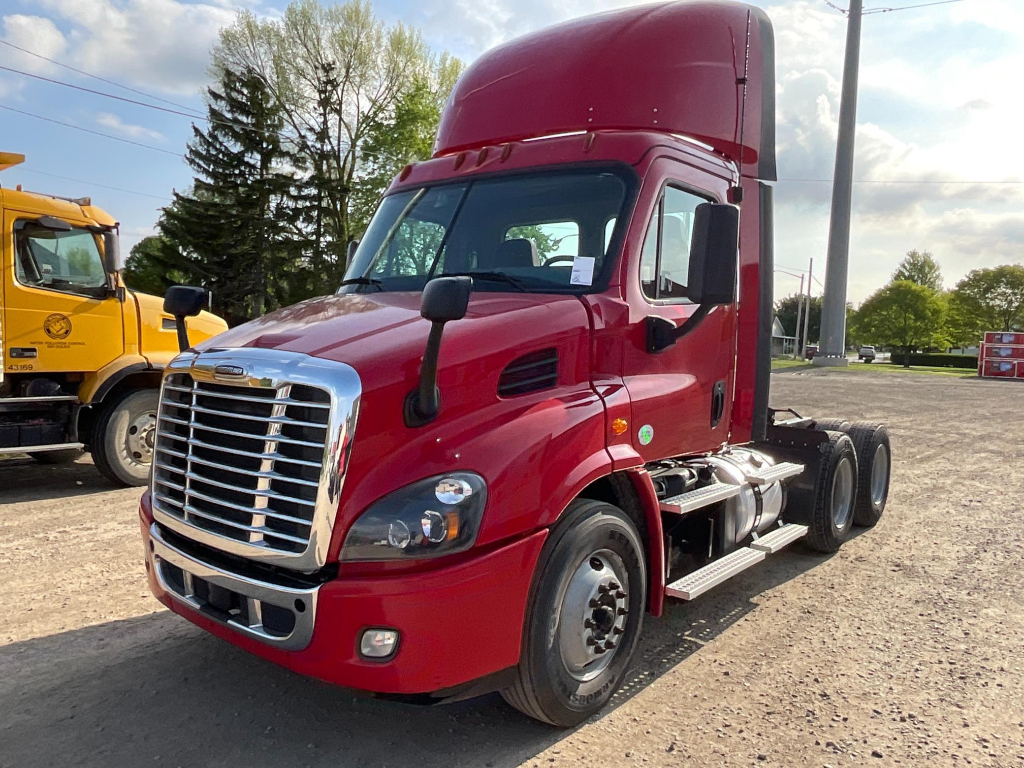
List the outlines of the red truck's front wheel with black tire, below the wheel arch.
<svg viewBox="0 0 1024 768">
<path fill-rule="evenodd" d="M 623 684 L 646 604 L 632 520 L 604 502 L 572 502 L 538 562 L 518 675 L 502 696 L 535 720 L 579 725 Z"/>
</svg>

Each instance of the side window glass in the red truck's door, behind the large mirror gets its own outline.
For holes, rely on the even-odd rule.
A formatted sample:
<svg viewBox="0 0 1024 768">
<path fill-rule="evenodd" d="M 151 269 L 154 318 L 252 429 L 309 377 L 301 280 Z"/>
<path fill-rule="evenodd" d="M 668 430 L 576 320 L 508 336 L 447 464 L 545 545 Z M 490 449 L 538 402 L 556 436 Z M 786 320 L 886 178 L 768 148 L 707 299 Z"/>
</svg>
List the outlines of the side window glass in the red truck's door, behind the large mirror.
<svg viewBox="0 0 1024 768">
<path fill-rule="evenodd" d="M 640 285 L 647 298 L 688 301 L 693 212 L 707 202 L 677 186 L 665 188 L 640 254 Z"/>
</svg>

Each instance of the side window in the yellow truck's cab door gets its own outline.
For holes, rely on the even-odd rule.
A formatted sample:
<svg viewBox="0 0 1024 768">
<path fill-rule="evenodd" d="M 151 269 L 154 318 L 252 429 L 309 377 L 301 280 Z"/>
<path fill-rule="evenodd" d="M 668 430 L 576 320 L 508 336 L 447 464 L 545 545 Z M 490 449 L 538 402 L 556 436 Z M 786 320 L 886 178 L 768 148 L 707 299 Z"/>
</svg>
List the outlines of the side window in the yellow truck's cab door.
<svg viewBox="0 0 1024 768">
<path fill-rule="evenodd" d="M 26 221 L 14 232 L 14 272 L 24 286 L 95 297 L 109 292 L 96 236 L 88 229 L 54 231 Z"/>
</svg>

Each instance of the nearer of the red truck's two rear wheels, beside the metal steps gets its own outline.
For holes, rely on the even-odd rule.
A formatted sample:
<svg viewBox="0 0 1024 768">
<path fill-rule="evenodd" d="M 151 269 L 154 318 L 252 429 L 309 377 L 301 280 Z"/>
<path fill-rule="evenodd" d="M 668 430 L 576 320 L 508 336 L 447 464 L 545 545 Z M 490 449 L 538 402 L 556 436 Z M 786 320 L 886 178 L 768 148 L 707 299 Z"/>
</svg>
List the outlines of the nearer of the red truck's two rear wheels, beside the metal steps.
<svg viewBox="0 0 1024 768">
<path fill-rule="evenodd" d="M 857 504 L 857 453 L 843 432 L 827 431 L 811 525 L 805 540 L 818 552 L 836 552 L 850 537 Z"/>
</svg>

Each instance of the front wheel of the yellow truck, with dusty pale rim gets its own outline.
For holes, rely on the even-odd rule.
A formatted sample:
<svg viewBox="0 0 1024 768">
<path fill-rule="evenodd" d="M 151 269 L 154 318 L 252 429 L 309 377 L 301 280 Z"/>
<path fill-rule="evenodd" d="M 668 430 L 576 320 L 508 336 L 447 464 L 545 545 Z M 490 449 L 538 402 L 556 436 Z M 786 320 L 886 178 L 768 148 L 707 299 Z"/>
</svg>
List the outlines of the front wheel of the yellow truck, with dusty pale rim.
<svg viewBox="0 0 1024 768">
<path fill-rule="evenodd" d="M 96 468 L 120 485 L 145 485 L 157 436 L 156 389 L 127 392 L 106 406 L 92 433 Z"/>
</svg>

